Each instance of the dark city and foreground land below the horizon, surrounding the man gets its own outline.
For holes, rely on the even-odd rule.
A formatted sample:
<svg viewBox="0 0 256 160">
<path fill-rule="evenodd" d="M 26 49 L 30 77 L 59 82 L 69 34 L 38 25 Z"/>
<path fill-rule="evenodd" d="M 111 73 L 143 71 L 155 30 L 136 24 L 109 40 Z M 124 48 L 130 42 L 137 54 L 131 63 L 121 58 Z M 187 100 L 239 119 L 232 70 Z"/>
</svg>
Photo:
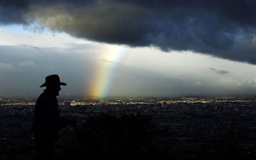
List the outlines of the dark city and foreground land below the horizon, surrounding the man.
<svg viewBox="0 0 256 160">
<path fill-rule="evenodd" d="M 56 159 L 255 159 L 255 102 L 74 106 Z M 0 159 L 36 160 L 33 105 L 0 106 Z"/>
</svg>

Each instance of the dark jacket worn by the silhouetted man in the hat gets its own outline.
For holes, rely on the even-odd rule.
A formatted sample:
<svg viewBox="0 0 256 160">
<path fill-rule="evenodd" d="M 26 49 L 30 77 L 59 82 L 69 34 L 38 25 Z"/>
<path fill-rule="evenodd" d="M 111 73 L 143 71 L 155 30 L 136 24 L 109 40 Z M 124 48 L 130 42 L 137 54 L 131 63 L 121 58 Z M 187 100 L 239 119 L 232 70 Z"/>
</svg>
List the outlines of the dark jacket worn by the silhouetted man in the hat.
<svg viewBox="0 0 256 160">
<path fill-rule="evenodd" d="M 65 128 L 68 120 L 60 117 L 58 110 L 58 100 L 48 90 L 38 97 L 35 105 L 34 119 L 32 122 L 32 131 L 37 136 L 46 136 L 57 141 L 58 131 Z"/>
</svg>

